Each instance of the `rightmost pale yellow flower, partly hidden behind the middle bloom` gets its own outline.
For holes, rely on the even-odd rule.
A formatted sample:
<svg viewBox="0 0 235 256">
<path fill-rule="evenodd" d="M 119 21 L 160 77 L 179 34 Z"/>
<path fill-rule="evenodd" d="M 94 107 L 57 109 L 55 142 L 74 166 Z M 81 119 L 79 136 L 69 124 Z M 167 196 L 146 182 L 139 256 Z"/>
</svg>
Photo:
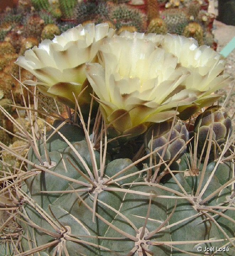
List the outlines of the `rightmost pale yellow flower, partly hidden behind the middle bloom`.
<svg viewBox="0 0 235 256">
<path fill-rule="evenodd" d="M 198 95 L 192 104 L 178 108 L 181 118 L 187 119 L 202 107 L 217 101 L 221 94 L 213 93 L 234 81 L 229 74 L 224 73 L 226 62 L 223 57 L 209 46 L 198 47 L 193 38 L 171 34 L 164 35 L 160 44 L 164 50 L 178 58 L 179 65 L 190 71 L 191 74 L 181 85 Z"/>
</svg>

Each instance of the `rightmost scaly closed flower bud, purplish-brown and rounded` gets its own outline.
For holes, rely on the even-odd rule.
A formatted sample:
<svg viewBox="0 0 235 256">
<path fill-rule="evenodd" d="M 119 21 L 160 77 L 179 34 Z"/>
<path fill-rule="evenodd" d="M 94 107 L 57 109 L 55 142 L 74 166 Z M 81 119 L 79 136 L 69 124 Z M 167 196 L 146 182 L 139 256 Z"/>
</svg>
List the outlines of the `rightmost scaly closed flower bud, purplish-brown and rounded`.
<svg viewBox="0 0 235 256">
<path fill-rule="evenodd" d="M 228 111 L 221 106 L 212 106 L 199 114 L 194 123 L 194 133 L 198 135 L 198 152 L 202 152 L 205 141 L 208 140 L 210 127 L 212 127 L 212 145 L 210 159 L 214 160 L 221 154 L 221 145 L 232 134 L 232 123 Z M 205 151 L 204 151 L 205 156 Z"/>
</svg>

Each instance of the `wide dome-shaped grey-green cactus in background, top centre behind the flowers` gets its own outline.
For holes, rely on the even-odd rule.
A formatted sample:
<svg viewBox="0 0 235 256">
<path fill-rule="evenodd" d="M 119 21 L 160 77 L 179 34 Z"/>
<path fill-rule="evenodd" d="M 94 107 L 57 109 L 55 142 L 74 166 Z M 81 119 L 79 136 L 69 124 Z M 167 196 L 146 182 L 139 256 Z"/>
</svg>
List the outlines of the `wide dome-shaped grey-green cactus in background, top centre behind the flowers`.
<svg viewBox="0 0 235 256">
<path fill-rule="evenodd" d="M 146 30 L 146 16 L 125 4 L 114 5 L 111 8 L 110 20 L 117 29 L 122 26 L 134 26 L 138 32 Z"/>
</svg>

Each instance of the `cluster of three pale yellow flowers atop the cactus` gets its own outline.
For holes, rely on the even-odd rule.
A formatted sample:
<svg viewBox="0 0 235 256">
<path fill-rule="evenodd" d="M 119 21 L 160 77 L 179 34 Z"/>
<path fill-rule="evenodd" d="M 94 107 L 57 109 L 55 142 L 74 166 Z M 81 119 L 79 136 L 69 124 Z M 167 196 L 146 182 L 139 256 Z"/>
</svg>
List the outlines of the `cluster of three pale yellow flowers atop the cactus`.
<svg viewBox="0 0 235 256">
<path fill-rule="evenodd" d="M 221 56 L 198 47 L 193 38 L 137 32 L 117 36 L 107 23 L 71 28 L 27 50 L 16 63 L 38 79 L 25 84 L 37 85 L 71 108 L 74 95 L 88 84 L 106 123 L 135 136 L 176 111 L 187 119 L 218 100 L 220 95 L 213 93 L 232 80 L 223 73 Z"/>
</svg>

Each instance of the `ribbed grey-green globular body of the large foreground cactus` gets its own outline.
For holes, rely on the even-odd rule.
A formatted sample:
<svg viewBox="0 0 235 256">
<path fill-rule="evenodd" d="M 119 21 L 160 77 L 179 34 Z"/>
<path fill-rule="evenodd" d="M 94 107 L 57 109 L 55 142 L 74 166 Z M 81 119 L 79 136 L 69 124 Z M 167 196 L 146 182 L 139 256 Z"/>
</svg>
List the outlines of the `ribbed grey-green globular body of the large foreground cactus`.
<svg viewBox="0 0 235 256">
<path fill-rule="evenodd" d="M 62 122 L 57 122 L 54 128 L 60 124 Z M 223 246 L 223 232 L 205 218 L 212 218 L 208 213 L 208 204 L 213 208 L 217 203 L 225 202 L 231 190 L 224 188 L 220 194 L 212 196 L 208 204 L 203 204 L 204 199 L 222 186 L 218 178 L 212 175 L 213 165 L 203 175 L 203 186 L 209 179 L 210 184 L 198 199 L 197 196 L 194 198 L 194 194 L 197 190 L 201 191 L 201 174 L 195 176 L 181 172 L 164 184 L 146 182 L 139 177 L 138 169 L 130 159 L 111 161 L 108 155 L 102 169 L 100 152 L 94 150 L 91 156 L 89 143 L 83 139 L 85 135 L 81 128 L 65 124 L 59 132 L 66 137 L 66 141 L 59 134 L 52 134 L 52 137 L 48 134 L 50 163 L 43 154 L 43 142 L 38 143 L 46 169 L 28 178 L 23 186 L 25 192 L 21 192 L 25 201 L 19 224 L 27 232 L 27 238 L 24 235 L 21 241 L 24 251 L 30 250 L 33 242 L 29 241 L 33 239 L 37 241 L 38 248 L 47 245 L 43 250 L 45 255 L 56 254 L 63 247 L 67 255 L 79 252 L 90 256 L 143 256 L 150 252 L 151 255 L 175 256 L 179 255 L 179 250 L 182 252 L 180 255 L 185 255 L 184 252 L 196 254 L 197 246 L 190 244 L 194 240 L 201 241 L 203 247 L 210 246 L 213 239 L 218 240 L 216 246 Z M 76 138 L 73 134 L 76 134 Z M 74 143 L 75 140 L 78 142 Z M 72 144 L 67 147 L 69 143 Z M 36 166 L 41 165 L 32 148 L 28 159 Z M 185 170 L 185 164 L 187 162 L 182 158 L 180 168 Z M 90 177 L 95 175 L 94 167 L 98 176 L 89 182 Z M 87 173 L 87 168 L 91 174 Z M 231 166 L 225 168 L 221 164 L 221 168 L 229 180 Z M 28 165 L 28 169 L 33 171 L 31 165 Z M 114 175 L 118 177 L 116 182 L 107 183 Z M 185 198 L 179 198 L 182 193 L 179 182 L 185 190 Z M 178 195 L 177 200 L 172 196 L 172 191 Z M 232 218 L 234 211 L 229 210 L 225 215 Z M 225 225 L 224 229 L 231 229 L 226 218 L 218 216 L 217 223 Z M 27 223 L 33 223 L 33 226 Z M 205 236 L 208 239 L 205 240 Z M 174 247 L 167 246 L 166 241 Z M 178 241 L 186 243 L 178 245 Z"/>
</svg>

